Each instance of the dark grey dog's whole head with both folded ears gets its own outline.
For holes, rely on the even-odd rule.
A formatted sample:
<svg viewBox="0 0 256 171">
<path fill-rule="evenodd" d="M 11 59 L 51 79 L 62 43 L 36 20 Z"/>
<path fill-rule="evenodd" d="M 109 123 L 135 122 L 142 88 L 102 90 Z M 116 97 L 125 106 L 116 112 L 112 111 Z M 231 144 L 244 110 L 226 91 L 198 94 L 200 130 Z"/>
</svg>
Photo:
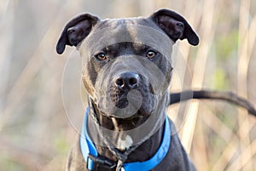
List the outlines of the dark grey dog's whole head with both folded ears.
<svg viewBox="0 0 256 171">
<path fill-rule="evenodd" d="M 79 49 L 84 86 L 102 115 L 149 116 L 166 103 L 178 39 L 199 43 L 189 23 L 168 9 L 114 20 L 81 14 L 67 23 L 56 51 L 62 54 L 66 45 Z"/>
</svg>

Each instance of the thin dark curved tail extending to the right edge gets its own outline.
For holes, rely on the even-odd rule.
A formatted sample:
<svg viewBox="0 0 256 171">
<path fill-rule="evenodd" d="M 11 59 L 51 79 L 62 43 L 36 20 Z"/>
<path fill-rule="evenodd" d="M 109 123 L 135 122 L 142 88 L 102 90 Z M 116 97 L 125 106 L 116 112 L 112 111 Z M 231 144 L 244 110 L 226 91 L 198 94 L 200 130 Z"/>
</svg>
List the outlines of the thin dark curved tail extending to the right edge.
<svg viewBox="0 0 256 171">
<path fill-rule="evenodd" d="M 212 90 L 186 90 L 179 93 L 170 94 L 169 105 L 179 103 L 183 100 L 225 100 L 235 105 L 240 105 L 247 109 L 247 111 L 256 117 L 256 110 L 254 106 L 247 100 L 238 97 L 232 92 L 220 92 Z"/>
</svg>

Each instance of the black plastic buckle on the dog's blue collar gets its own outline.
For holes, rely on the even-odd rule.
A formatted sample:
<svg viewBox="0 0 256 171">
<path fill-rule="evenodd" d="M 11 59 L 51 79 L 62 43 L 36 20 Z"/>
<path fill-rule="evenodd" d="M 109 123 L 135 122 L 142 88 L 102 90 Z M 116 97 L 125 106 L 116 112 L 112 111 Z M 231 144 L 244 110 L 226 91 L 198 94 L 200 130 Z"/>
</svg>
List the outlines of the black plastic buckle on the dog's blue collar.
<svg viewBox="0 0 256 171">
<path fill-rule="evenodd" d="M 90 154 L 87 157 L 87 168 L 91 171 L 115 171 L 116 167 L 116 163 L 111 162 L 108 159 L 94 157 Z"/>
</svg>

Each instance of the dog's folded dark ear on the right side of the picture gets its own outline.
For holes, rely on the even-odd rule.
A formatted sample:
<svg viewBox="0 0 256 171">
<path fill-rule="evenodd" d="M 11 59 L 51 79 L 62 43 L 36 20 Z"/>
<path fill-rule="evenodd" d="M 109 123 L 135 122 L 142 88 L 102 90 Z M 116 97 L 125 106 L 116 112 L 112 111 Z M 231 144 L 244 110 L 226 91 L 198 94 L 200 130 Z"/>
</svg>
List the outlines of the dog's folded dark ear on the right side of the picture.
<svg viewBox="0 0 256 171">
<path fill-rule="evenodd" d="M 189 23 L 180 14 L 169 9 L 160 9 L 149 18 L 153 20 L 166 34 L 176 42 L 177 39 L 187 38 L 191 45 L 199 43 L 195 31 L 189 26 Z"/>
</svg>

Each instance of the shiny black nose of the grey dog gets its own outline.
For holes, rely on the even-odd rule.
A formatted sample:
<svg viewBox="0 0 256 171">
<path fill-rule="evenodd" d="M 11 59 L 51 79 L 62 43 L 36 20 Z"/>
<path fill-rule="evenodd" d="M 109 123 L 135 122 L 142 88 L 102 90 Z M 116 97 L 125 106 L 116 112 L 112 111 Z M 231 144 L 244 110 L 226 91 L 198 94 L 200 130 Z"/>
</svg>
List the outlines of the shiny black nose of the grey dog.
<svg viewBox="0 0 256 171">
<path fill-rule="evenodd" d="M 127 71 L 114 79 L 114 85 L 119 89 L 137 88 L 139 75 L 133 71 Z"/>
</svg>

